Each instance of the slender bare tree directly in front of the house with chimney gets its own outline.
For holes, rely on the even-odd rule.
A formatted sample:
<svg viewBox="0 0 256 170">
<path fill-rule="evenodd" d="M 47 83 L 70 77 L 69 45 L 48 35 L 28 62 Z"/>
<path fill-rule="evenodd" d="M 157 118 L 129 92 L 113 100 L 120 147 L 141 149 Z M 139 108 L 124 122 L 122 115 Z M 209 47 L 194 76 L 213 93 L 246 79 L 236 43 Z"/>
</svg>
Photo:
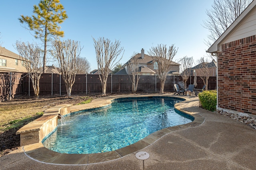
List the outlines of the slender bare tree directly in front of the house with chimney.
<svg viewBox="0 0 256 170">
<path fill-rule="evenodd" d="M 140 80 L 140 74 L 139 74 L 139 58 L 136 56 L 136 53 L 134 52 L 131 59 L 129 60 L 130 65 L 130 72 L 132 73 L 132 93 L 136 93 L 138 88 L 138 83 Z M 130 77 L 130 74 L 129 74 Z"/>
</svg>

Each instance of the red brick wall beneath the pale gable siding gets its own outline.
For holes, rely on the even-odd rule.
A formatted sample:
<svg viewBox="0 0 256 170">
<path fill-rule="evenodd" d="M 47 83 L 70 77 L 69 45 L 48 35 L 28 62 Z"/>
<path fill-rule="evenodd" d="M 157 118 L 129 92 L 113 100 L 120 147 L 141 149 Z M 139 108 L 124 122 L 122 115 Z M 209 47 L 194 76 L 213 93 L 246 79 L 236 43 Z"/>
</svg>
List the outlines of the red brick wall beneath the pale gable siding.
<svg viewBox="0 0 256 170">
<path fill-rule="evenodd" d="M 218 106 L 256 115 L 256 35 L 222 45 Z"/>
</svg>

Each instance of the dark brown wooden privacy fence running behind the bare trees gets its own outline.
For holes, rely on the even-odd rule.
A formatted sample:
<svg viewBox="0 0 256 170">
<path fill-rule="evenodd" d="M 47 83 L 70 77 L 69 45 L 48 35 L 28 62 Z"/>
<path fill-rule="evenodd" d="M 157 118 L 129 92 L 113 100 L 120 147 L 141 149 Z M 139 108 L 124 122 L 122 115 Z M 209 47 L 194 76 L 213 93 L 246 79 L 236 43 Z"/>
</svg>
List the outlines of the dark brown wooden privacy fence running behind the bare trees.
<svg viewBox="0 0 256 170">
<path fill-rule="evenodd" d="M 27 73 L 4 73 L 0 74 L 0 96 L 1 101 L 13 98 L 14 95 L 34 95 L 32 82 Z M 131 75 L 130 75 L 131 76 Z M 107 80 L 106 93 L 132 92 L 132 81 L 129 75 L 109 75 Z M 14 78 L 15 77 L 15 78 Z M 188 84 L 194 83 L 194 76 L 187 81 Z M 10 84 L 11 93 L 10 93 Z M 183 87 L 181 76 L 167 76 L 164 85 L 164 92 L 173 92 L 174 84 Z M 202 79 L 197 77 L 197 87 L 204 86 Z M 60 74 L 45 73 L 40 78 L 39 95 L 64 95 L 66 94 L 66 86 Z M 216 77 L 210 77 L 208 80 L 208 89 L 216 89 Z M 160 79 L 157 76 L 140 76 L 137 92 L 159 92 Z M 77 74 L 74 85 L 72 86 L 72 94 L 95 94 L 101 93 L 102 87 L 99 75 L 96 74 Z M 11 97 L 10 97 L 11 95 Z"/>
</svg>

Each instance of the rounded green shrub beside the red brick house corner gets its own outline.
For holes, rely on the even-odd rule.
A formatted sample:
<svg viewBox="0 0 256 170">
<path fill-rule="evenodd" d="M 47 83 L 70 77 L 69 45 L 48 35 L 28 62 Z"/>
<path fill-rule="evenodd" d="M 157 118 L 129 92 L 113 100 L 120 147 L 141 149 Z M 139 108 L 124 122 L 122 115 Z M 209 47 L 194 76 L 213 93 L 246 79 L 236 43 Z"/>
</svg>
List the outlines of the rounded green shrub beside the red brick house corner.
<svg viewBox="0 0 256 170">
<path fill-rule="evenodd" d="M 198 97 L 199 97 L 199 101 L 202 108 L 210 111 L 216 110 L 216 105 L 217 105 L 216 90 L 203 91 L 198 94 Z"/>
</svg>

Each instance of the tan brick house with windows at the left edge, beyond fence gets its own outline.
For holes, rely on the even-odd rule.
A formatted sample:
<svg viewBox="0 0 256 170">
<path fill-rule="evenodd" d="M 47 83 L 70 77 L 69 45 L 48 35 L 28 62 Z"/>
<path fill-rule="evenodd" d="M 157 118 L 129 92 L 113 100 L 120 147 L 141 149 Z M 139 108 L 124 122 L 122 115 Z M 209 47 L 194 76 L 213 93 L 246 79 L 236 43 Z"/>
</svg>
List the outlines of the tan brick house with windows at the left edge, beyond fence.
<svg viewBox="0 0 256 170">
<path fill-rule="evenodd" d="M 0 72 L 27 72 L 18 54 L 0 47 Z"/>
</svg>

